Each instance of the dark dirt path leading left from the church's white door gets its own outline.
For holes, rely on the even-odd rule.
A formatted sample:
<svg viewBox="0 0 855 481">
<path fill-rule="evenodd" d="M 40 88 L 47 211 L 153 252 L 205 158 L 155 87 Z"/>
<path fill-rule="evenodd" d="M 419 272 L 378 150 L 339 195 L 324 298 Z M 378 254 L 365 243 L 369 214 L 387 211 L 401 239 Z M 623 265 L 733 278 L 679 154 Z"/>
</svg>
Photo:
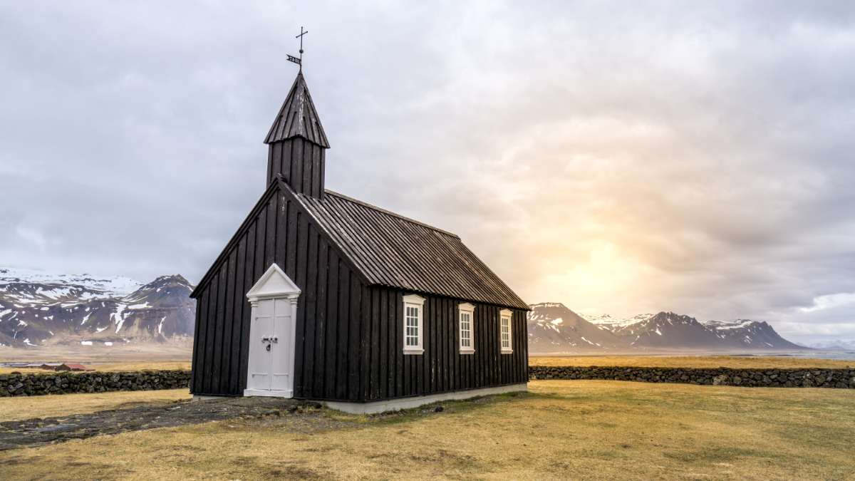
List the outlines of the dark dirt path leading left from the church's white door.
<svg viewBox="0 0 855 481">
<path fill-rule="evenodd" d="M 320 405 L 280 398 L 246 397 L 175 401 L 56 418 L 6 421 L 0 423 L 0 451 L 101 434 L 196 425 L 220 419 L 280 417 L 313 407 Z"/>
</svg>

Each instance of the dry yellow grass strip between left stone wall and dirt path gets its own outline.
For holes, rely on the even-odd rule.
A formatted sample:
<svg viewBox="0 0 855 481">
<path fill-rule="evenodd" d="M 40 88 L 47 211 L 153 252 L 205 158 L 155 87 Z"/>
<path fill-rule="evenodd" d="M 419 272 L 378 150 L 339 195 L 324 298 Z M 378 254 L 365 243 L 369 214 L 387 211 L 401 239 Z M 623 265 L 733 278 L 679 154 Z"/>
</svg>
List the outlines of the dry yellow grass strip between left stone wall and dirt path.
<svg viewBox="0 0 855 481">
<path fill-rule="evenodd" d="M 190 399 L 190 391 L 188 389 L 0 397 L 0 422 L 15 419 L 51 418 L 71 414 L 95 413 L 107 409 L 133 407 L 150 402 L 172 402 L 181 399 Z"/>
</svg>

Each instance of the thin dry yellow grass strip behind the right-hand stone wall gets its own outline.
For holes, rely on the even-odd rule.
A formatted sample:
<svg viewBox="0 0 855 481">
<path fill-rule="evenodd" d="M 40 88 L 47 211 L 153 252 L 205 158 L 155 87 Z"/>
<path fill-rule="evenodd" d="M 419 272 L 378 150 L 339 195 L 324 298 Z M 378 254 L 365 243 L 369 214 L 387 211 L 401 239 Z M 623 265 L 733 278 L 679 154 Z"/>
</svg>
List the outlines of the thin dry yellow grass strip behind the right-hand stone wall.
<svg viewBox="0 0 855 481">
<path fill-rule="evenodd" d="M 635 367 L 732 367 L 805 368 L 855 367 L 855 360 L 748 356 L 542 356 L 528 358 L 528 365 L 635 366 Z"/>
</svg>

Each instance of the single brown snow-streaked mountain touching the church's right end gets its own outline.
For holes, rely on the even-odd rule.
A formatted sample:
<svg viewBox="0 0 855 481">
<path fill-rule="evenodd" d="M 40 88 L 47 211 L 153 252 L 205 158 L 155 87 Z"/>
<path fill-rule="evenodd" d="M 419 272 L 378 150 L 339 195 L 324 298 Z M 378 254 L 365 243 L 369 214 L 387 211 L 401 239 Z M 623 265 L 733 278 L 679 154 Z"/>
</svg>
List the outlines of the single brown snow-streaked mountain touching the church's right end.
<svg viewBox="0 0 855 481">
<path fill-rule="evenodd" d="M 540 353 L 600 351 L 621 347 L 610 330 L 588 322 L 567 306 L 555 302 L 534 304 L 528 313 L 528 350 Z"/>
</svg>

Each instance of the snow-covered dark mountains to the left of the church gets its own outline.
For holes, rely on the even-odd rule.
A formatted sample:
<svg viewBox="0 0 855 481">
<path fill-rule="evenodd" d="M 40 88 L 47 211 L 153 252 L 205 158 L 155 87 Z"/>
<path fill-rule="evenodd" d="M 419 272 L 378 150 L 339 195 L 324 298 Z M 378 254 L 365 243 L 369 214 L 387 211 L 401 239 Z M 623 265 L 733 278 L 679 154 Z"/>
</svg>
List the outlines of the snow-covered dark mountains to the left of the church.
<svg viewBox="0 0 855 481">
<path fill-rule="evenodd" d="M 182 276 L 127 277 L 0 268 L 0 345 L 167 341 L 192 336 L 192 286 Z"/>
</svg>

